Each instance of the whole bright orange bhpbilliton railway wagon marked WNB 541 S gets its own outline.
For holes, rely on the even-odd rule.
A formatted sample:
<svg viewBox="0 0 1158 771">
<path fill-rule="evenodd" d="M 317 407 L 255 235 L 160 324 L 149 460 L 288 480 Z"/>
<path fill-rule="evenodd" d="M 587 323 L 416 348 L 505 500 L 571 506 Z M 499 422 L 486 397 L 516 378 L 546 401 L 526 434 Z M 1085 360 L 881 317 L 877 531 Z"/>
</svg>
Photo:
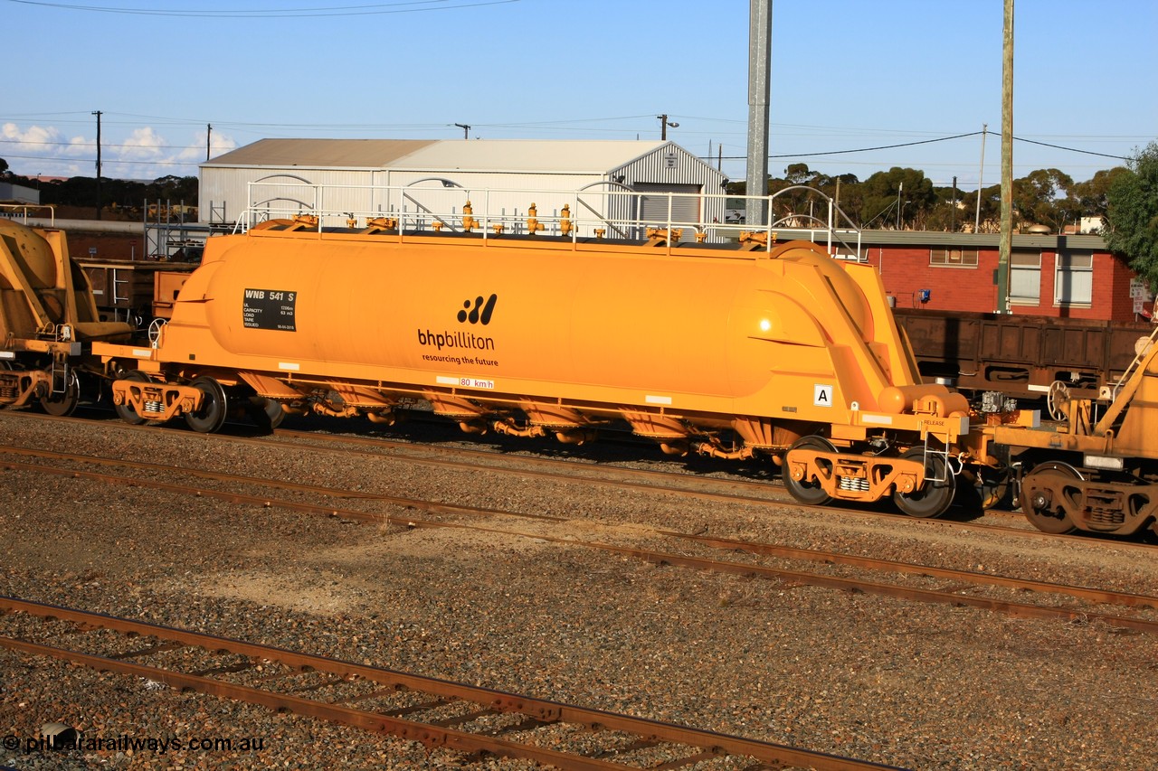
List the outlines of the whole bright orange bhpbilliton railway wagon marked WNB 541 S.
<svg viewBox="0 0 1158 771">
<path fill-rule="evenodd" d="M 422 405 L 567 442 L 626 424 L 667 453 L 767 457 L 804 501 L 948 507 L 980 449 L 962 443 L 968 404 L 922 384 L 871 267 L 716 225 L 585 227 L 580 208 L 559 235 L 469 201 L 410 220 L 265 212 L 208 240 L 153 347 L 100 346 L 123 373 L 113 401 L 205 432 L 239 405 L 270 424 Z"/>
</svg>

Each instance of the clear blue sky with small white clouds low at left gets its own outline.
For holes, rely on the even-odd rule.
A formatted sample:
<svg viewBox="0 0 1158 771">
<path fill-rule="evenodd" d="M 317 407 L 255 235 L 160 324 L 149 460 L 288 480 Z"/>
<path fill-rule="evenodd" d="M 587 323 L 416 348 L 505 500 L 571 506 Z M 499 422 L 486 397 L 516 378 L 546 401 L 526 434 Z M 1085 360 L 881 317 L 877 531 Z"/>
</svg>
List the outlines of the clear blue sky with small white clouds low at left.
<svg viewBox="0 0 1158 771">
<path fill-rule="evenodd" d="M 269 137 L 459 139 L 456 123 L 482 139 L 658 139 L 666 113 L 680 124 L 668 139 L 713 164 L 723 154 L 740 179 L 748 10 L 0 0 L 0 157 L 27 176 L 94 176 L 95 110 L 104 176 L 140 179 L 196 175 L 206 134 L 211 155 Z M 1002 17 L 1002 0 L 774 0 L 769 171 L 900 166 L 995 184 Z M 1014 176 L 1085 181 L 1158 139 L 1156 39 L 1156 0 L 1017 0 L 1013 131 L 1031 141 L 1014 142 Z M 973 135 L 928 141 L 959 134 Z M 867 149 L 895 145 L 909 146 Z"/>
</svg>

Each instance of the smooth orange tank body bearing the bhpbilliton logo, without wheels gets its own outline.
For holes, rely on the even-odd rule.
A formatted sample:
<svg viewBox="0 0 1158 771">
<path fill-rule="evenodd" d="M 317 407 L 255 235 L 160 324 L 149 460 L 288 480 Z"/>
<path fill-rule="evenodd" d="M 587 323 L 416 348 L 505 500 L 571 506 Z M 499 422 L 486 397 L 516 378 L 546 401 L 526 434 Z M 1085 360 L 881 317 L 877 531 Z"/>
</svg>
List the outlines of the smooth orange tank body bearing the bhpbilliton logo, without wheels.
<svg viewBox="0 0 1158 771">
<path fill-rule="evenodd" d="M 853 402 L 875 410 L 886 388 L 919 382 L 885 309 L 871 269 L 806 242 L 668 251 L 255 229 L 208 242 L 161 355 L 483 401 L 846 423 Z"/>
</svg>

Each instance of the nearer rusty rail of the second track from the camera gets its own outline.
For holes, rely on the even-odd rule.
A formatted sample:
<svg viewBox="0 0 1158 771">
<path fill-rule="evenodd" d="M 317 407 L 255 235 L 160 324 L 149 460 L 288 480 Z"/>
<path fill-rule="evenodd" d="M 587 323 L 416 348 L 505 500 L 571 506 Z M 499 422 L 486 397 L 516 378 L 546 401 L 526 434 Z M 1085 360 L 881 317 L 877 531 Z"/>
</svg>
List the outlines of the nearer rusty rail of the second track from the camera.
<svg viewBox="0 0 1158 771">
<path fill-rule="evenodd" d="M 1146 632 L 1151 634 L 1158 634 L 1158 621 L 1148 621 L 1143 618 L 1133 618 L 1127 616 L 1114 616 L 1111 614 L 1095 612 L 1090 610 L 1076 610 L 1069 608 L 1055 608 L 1048 605 L 1034 605 L 1028 603 L 1011 602 L 1005 600 L 994 600 L 989 597 L 977 597 L 965 594 L 959 594 L 954 592 L 941 592 L 936 589 L 921 589 L 913 587 L 903 587 L 893 583 L 879 583 L 873 581 L 865 581 L 858 579 L 845 579 L 831 575 L 821 575 L 818 573 L 806 573 L 802 571 L 793 571 L 785 568 L 767 567 L 762 565 L 753 565 L 747 563 L 731 563 L 724 560 L 708 559 L 703 557 L 690 557 L 686 555 L 675 555 L 670 552 L 659 552 L 653 550 L 637 549 L 632 546 L 618 546 L 614 544 L 599 543 L 599 542 L 587 542 L 587 541 L 574 541 L 570 538 L 563 538 L 557 536 L 549 536 L 538 533 L 521 533 L 519 530 L 506 530 L 500 528 L 483 528 L 471 524 L 463 524 L 456 522 L 434 522 L 430 520 L 420 520 L 412 516 L 397 516 L 391 514 L 379 514 L 373 512 L 359 512 L 352 509 L 340 509 L 330 506 L 321 506 L 317 504 L 307 504 L 301 501 L 287 501 L 287 500 L 276 500 L 266 498 L 263 495 L 250 495 L 245 493 L 236 493 L 228 491 L 218 490 L 201 490 L 197 487 L 191 487 L 188 485 L 177 485 L 171 483 L 157 482 L 152 479 L 137 479 L 137 478 L 123 478 L 113 477 L 104 473 L 96 473 L 91 471 L 78 471 L 74 469 L 57 469 L 52 467 L 43 467 L 28 463 L 15 463 L 12 461 L 6 462 L 8 468 L 22 468 L 29 471 L 49 471 L 54 473 L 60 473 L 65 476 L 73 477 L 86 477 L 91 479 L 97 479 L 102 482 L 111 482 L 116 484 L 127 484 L 130 486 L 142 486 L 152 487 L 156 490 L 164 490 L 168 492 L 191 494 L 196 497 L 215 498 L 220 500 L 226 500 L 233 504 L 251 504 L 255 506 L 262 506 L 265 508 L 278 507 L 291 511 L 300 511 L 307 513 L 321 513 L 328 516 L 335 516 L 340 519 L 354 520 L 354 521 L 366 521 L 376 523 L 389 523 L 400 527 L 409 528 L 442 528 L 442 529 L 466 529 L 476 533 L 488 533 L 503 536 L 514 536 L 519 538 L 537 538 L 543 542 L 555 543 L 559 545 L 567 546 L 581 546 L 585 549 L 594 549 L 600 551 L 607 551 L 611 553 L 617 553 L 626 557 L 633 557 L 642 559 L 647 563 L 659 564 L 659 565 L 675 565 L 680 567 L 692 567 L 696 570 L 711 571 L 717 573 L 732 573 L 746 577 L 757 577 L 757 578 L 769 578 L 779 579 L 787 581 L 790 583 L 801 583 L 808 586 L 819 586 L 831 589 L 840 589 L 845 592 L 864 592 L 867 594 L 877 594 L 894 599 L 911 600 L 916 602 L 930 602 L 939 604 L 950 605 L 968 605 L 973 608 L 999 611 L 1009 616 L 1020 617 L 1020 618 L 1041 618 L 1041 619 L 1062 619 L 1067 622 L 1073 621 L 1100 621 L 1111 626 L 1117 626 L 1122 629 L 1133 629 L 1139 632 Z M 391 500 L 393 502 L 393 500 Z M 442 513 L 442 514 L 499 514 L 506 515 L 507 512 L 497 512 L 494 509 L 483 509 L 472 508 L 468 506 L 457 506 L 452 504 L 432 504 L 425 501 L 411 501 L 408 504 L 413 508 L 422 508 L 426 512 Z M 723 539 L 721 539 L 723 541 Z M 730 546 L 736 548 L 736 546 Z M 775 549 L 775 546 L 769 545 L 769 549 Z M 850 560 L 858 560 L 867 563 L 872 558 L 855 558 L 848 557 Z M 918 573 L 922 571 L 937 571 L 940 570 L 943 574 L 948 574 L 945 568 L 929 568 L 925 566 L 910 566 L 913 570 L 910 572 Z M 960 572 L 953 574 L 953 578 L 965 579 L 972 577 L 975 580 L 988 579 L 977 573 L 966 573 Z M 1011 581 L 1018 582 L 1018 588 L 1040 587 L 1046 590 L 1046 583 L 1035 583 L 1032 581 L 1025 581 L 1021 579 L 1011 579 Z M 1080 587 L 1071 587 L 1073 592 L 1082 592 Z M 1119 593 L 1109 593 L 1099 589 L 1090 590 L 1094 593 L 1094 596 L 1115 596 Z M 1134 595 L 1131 600 L 1128 595 L 1122 595 L 1126 597 L 1121 604 L 1153 604 L 1153 597 L 1146 597 L 1144 595 Z M 1100 600 L 1094 600 L 1100 602 Z"/>
</svg>

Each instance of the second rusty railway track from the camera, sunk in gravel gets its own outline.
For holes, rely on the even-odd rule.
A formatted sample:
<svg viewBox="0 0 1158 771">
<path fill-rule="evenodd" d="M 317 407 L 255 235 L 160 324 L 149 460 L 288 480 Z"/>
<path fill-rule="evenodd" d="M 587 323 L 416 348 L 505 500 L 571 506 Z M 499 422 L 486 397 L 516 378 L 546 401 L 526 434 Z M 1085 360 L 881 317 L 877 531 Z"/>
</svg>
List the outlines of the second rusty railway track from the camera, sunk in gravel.
<svg viewBox="0 0 1158 771">
<path fill-rule="evenodd" d="M 1023 579 L 1017 577 L 995 575 L 977 571 L 937 567 L 919 563 L 906 563 L 873 558 L 862 555 L 836 553 L 821 549 L 791 548 L 772 543 L 758 543 L 738 538 L 725 538 L 702 534 L 679 533 L 674 530 L 654 529 L 652 537 L 668 544 L 667 549 L 623 545 L 604 541 L 589 541 L 574 537 L 570 531 L 557 528 L 571 522 L 569 517 L 533 514 L 516 511 L 481 508 L 474 506 L 431 501 L 418 498 L 382 495 L 366 491 L 332 489 L 318 485 L 290 483 L 283 479 L 248 477 L 234 473 L 220 473 L 199 469 L 171 468 L 164 464 L 134 462 L 118 458 L 100 458 L 86 455 L 54 453 L 27 448 L 0 447 L 0 454 L 24 455 L 45 463 L 6 462 L 9 469 L 50 472 L 71 477 L 82 477 L 110 484 L 152 487 L 163 492 L 186 494 L 204 498 L 217 498 L 239 505 L 251 505 L 262 508 L 278 507 L 310 514 L 338 517 L 347 521 L 389 523 L 405 528 L 444 528 L 475 530 L 489 534 L 501 534 L 513 538 L 530 538 L 556 543 L 569 548 L 584 548 L 642 559 L 657 565 L 689 567 L 717 573 L 738 574 L 775 579 L 790 585 L 807 585 L 827 587 L 845 592 L 862 592 L 881 596 L 973 607 L 977 609 L 1002 612 L 1020 618 L 1046 618 L 1065 622 L 1099 621 L 1119 629 L 1128 629 L 1146 633 L 1158 633 L 1158 619 L 1145 616 L 1121 616 L 1116 612 L 1101 610 L 1100 605 L 1136 609 L 1158 609 L 1158 596 L 1100 589 L 1095 587 L 1069 586 L 1055 582 Z M 52 465 L 51 462 L 58 463 Z M 232 485 L 228 489 L 195 486 L 184 482 L 174 483 L 147 476 L 126 475 L 111 471 L 86 471 L 78 464 L 96 463 L 113 469 L 133 470 L 142 473 L 167 472 L 184 479 L 198 477 L 212 482 Z M 243 492 L 252 489 L 277 489 L 308 495 L 320 495 L 328 500 L 322 502 L 310 500 L 290 500 L 273 498 L 264 493 Z M 354 509 L 335 506 L 334 500 L 376 501 L 403 509 L 402 513 L 389 514 L 381 511 Z M 423 512 L 427 519 L 416 516 L 413 512 Z M 449 519 L 428 519 L 430 516 Z M 490 520 L 522 520 L 535 524 L 532 529 L 519 530 L 508 527 L 479 526 L 472 521 L 479 517 Z M 461 521 L 463 519 L 472 521 Z M 908 520 L 906 520 L 908 521 Z M 922 523 L 924 520 L 916 520 Z M 556 529 L 552 530 L 552 527 Z M 610 528 L 607 530 L 610 531 Z M 1021 537 L 1057 538 L 1036 531 L 1014 530 L 1013 535 Z M 1083 541 L 1079 538 L 1079 541 Z M 679 551 L 672 549 L 679 544 Z M 706 552 L 690 553 L 694 546 L 706 549 Z M 1127 548 L 1143 552 L 1152 551 L 1152 546 L 1143 544 L 1126 544 Z M 711 556 L 720 551 L 745 553 L 747 561 L 719 559 Z M 764 564 L 763 558 L 779 560 L 779 564 Z M 790 566 L 783 566 L 787 564 Z M 811 564 L 816 567 L 800 570 L 797 564 Z M 851 574 L 841 574 L 840 571 Z M 894 577 L 889 582 L 882 582 L 881 577 Z M 988 593 L 988 594 L 980 594 Z M 1048 603 L 1026 603 L 1011 599 L 1019 593 L 1033 593 L 1040 597 L 1053 597 L 1055 603 L 1065 600 L 1083 603 L 1080 607 L 1067 607 Z"/>
</svg>

